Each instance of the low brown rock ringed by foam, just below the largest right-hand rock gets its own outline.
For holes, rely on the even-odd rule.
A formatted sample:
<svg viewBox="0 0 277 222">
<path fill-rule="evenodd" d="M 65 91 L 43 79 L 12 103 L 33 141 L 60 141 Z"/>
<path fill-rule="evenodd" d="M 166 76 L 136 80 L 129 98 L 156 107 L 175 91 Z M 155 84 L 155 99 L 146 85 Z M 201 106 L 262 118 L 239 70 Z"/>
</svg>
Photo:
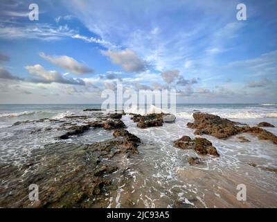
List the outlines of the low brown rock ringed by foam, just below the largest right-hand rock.
<svg viewBox="0 0 277 222">
<path fill-rule="evenodd" d="M 217 149 L 205 138 L 195 137 L 195 139 L 190 139 L 190 137 L 184 136 L 175 140 L 174 144 L 182 149 L 193 149 L 201 155 L 219 156 Z"/>
</svg>

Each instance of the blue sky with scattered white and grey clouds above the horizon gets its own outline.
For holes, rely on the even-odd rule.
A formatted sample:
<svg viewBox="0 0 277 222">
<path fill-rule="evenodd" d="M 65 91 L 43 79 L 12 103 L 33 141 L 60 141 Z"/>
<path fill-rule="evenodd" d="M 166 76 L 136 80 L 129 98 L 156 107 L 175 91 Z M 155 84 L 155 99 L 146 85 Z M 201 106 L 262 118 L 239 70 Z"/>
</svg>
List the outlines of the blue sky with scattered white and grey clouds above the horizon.
<svg viewBox="0 0 277 222">
<path fill-rule="evenodd" d="M 0 103 L 100 103 L 117 83 L 176 89 L 177 103 L 277 103 L 276 11 L 274 0 L 1 0 Z"/>
</svg>

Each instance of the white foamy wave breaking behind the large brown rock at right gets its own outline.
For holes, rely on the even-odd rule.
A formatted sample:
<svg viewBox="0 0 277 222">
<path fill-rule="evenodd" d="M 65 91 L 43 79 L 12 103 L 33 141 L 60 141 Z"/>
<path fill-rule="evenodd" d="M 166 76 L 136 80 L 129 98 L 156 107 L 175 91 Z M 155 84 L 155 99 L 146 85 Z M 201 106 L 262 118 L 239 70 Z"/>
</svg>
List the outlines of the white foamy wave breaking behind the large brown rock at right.
<svg viewBox="0 0 277 222">
<path fill-rule="evenodd" d="M 227 119 L 262 119 L 262 118 L 276 118 L 277 112 L 261 113 L 255 111 L 242 111 L 242 112 L 207 112 L 209 114 L 215 114 L 222 118 Z M 179 112 L 178 117 L 184 119 L 193 119 L 193 112 Z"/>
</svg>

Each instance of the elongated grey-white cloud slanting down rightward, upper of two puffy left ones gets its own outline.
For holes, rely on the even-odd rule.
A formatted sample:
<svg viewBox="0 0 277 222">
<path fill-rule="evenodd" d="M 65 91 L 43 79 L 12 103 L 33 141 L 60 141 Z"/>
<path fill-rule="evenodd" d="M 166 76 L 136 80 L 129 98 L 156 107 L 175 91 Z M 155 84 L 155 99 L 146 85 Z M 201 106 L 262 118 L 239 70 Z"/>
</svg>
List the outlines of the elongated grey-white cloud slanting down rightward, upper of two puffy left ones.
<svg viewBox="0 0 277 222">
<path fill-rule="evenodd" d="M 69 56 L 46 56 L 44 53 L 39 53 L 39 56 L 57 67 L 73 72 L 73 74 L 88 74 L 93 72 L 93 69 Z"/>
</svg>

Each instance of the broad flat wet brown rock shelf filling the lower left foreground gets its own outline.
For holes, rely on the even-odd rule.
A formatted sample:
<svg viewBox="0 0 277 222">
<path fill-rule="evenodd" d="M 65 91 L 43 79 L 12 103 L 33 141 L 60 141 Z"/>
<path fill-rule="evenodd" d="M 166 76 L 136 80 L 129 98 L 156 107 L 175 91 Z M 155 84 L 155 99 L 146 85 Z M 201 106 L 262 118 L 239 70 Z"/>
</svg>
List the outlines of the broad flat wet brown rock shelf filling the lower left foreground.
<svg viewBox="0 0 277 222">
<path fill-rule="evenodd" d="M 120 162 L 138 153 L 131 141 L 139 138 L 115 134 L 124 137 L 93 144 L 57 142 L 33 150 L 20 167 L 0 163 L 0 206 L 108 207 L 118 187 L 129 182 L 129 166 Z M 28 199 L 30 184 L 39 185 L 38 201 Z"/>
</svg>

